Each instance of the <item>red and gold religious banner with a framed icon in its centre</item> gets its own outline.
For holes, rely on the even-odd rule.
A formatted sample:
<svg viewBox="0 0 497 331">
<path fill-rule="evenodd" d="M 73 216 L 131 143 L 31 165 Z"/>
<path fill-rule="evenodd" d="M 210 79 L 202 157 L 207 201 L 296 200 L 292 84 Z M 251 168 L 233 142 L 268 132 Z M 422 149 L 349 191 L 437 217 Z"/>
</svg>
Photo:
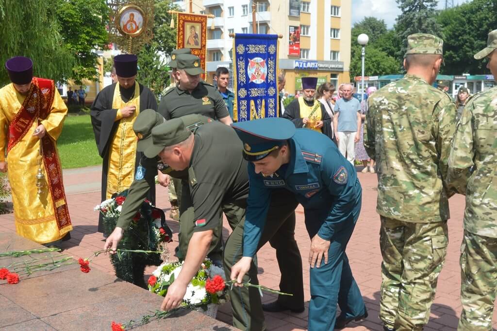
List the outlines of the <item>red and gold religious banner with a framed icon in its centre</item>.
<svg viewBox="0 0 497 331">
<path fill-rule="evenodd" d="M 207 57 L 207 15 L 177 12 L 176 48 L 189 48 L 191 54 L 200 58 L 202 69 L 206 70 Z M 205 79 L 205 73 L 202 74 Z"/>
</svg>

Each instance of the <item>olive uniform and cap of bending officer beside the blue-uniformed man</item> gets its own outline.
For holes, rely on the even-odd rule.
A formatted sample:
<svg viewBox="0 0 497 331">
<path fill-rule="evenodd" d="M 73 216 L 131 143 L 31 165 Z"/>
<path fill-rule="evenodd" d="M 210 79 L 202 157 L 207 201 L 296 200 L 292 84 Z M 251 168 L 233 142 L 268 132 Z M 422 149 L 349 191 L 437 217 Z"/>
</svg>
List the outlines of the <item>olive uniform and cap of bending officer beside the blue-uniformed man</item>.
<svg viewBox="0 0 497 331">
<path fill-rule="evenodd" d="M 183 118 L 183 117 L 182 117 Z M 171 146 L 184 141 L 184 124 L 181 119 L 171 119 L 152 130 L 154 146 L 145 150 L 146 156 L 158 153 L 164 146 Z M 198 128 L 194 134 L 194 146 L 188 167 L 188 190 L 183 186 L 181 205 L 193 207 L 193 218 L 188 221 L 181 214 L 181 231 L 189 227 L 190 237 L 193 232 L 216 229 L 222 226 L 220 209 L 225 213 L 229 225 L 236 229 L 227 240 L 224 250 L 227 256 L 236 256 L 237 248 L 243 242 L 243 224 L 248 198 L 248 170 L 247 161 L 243 158 L 242 142 L 235 130 L 223 123 L 214 121 Z M 229 160 L 229 162 L 227 162 Z M 184 192 L 190 192 L 187 199 Z M 287 275 L 281 286 L 281 291 L 293 293 L 287 296 L 288 306 L 304 304 L 304 290 L 302 281 L 302 260 L 294 237 L 295 218 L 293 212 L 297 201 L 293 195 L 285 190 L 278 190 L 271 198 L 267 224 L 259 242 L 261 247 L 269 238 L 271 246 L 277 249 L 278 259 L 285 254 L 285 261 L 279 261 Z M 190 237 L 188 237 L 188 242 Z M 227 278 L 229 267 L 225 265 Z M 252 265 L 250 282 L 257 282 L 257 267 Z M 282 280 L 283 281 L 283 280 Z M 259 292 L 256 289 L 234 288 L 230 294 L 233 311 L 233 320 L 236 328 L 247 331 L 266 330 L 264 313 Z M 300 301 L 294 303 L 290 301 Z"/>
</svg>

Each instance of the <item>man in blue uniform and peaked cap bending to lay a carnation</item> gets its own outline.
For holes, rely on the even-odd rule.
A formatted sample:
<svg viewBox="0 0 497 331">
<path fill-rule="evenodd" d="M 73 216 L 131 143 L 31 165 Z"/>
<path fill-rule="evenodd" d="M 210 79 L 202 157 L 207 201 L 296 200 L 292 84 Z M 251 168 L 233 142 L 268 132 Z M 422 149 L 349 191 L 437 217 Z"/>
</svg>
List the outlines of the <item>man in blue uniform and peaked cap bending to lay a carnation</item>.
<svg viewBox="0 0 497 331">
<path fill-rule="evenodd" d="M 244 143 L 250 189 L 243 256 L 231 279 L 242 281 L 257 249 L 271 191 L 285 188 L 304 207 L 311 238 L 309 330 L 344 328 L 367 317 L 345 248 L 361 209 L 361 185 L 354 167 L 326 135 L 296 129 L 284 118 L 234 123 Z M 335 319 L 336 305 L 341 314 Z"/>
</svg>

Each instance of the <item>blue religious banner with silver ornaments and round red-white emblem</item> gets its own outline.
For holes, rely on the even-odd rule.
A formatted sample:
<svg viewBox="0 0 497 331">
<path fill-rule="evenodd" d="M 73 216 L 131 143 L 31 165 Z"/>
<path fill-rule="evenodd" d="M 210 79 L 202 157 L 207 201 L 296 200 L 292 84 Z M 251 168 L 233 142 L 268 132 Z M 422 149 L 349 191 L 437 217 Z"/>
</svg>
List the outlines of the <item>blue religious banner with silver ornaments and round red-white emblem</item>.
<svg viewBox="0 0 497 331">
<path fill-rule="evenodd" d="M 278 116 L 278 35 L 235 34 L 234 121 Z"/>
</svg>

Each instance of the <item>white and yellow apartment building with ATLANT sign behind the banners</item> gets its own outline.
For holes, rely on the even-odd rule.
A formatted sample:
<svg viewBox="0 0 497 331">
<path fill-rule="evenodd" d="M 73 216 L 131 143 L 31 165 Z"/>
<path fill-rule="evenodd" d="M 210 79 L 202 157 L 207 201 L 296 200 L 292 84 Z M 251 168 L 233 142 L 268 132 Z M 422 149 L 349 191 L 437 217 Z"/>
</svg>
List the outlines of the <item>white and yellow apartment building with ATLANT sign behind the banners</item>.
<svg viewBox="0 0 497 331">
<path fill-rule="evenodd" d="M 189 0 L 175 1 L 185 11 Z M 255 4 L 256 31 L 279 34 L 279 69 L 286 78 L 285 92 L 301 89 L 302 77 L 318 77 L 319 83 L 335 86 L 349 82 L 350 0 L 258 0 Z M 218 67 L 233 71 L 232 33 L 252 33 L 251 0 L 194 0 L 192 11 L 212 14 L 207 22 L 207 78 L 213 82 Z M 290 31 L 296 31 L 296 50 Z M 300 35 L 299 35 L 300 34 Z"/>
</svg>

